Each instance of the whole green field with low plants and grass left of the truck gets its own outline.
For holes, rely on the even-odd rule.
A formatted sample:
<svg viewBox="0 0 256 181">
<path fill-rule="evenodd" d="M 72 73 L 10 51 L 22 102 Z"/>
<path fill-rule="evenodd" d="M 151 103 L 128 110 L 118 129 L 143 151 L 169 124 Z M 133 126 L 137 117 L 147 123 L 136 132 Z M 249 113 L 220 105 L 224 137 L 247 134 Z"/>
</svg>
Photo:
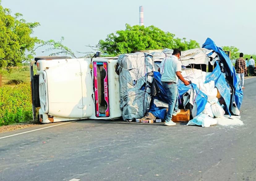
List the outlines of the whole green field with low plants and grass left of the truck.
<svg viewBox="0 0 256 181">
<path fill-rule="evenodd" d="M 32 121 L 29 67 L 1 69 L 0 126 Z"/>
</svg>

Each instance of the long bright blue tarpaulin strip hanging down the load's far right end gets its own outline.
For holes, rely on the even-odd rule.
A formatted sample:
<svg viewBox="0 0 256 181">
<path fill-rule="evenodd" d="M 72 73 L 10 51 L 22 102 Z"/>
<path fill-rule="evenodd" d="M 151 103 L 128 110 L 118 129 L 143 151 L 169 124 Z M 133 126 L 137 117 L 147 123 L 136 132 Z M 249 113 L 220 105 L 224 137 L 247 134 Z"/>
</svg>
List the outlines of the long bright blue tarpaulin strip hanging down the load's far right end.
<svg viewBox="0 0 256 181">
<path fill-rule="evenodd" d="M 230 76 L 230 80 L 233 79 L 233 82 L 229 82 L 233 88 L 234 88 L 234 97 L 235 97 L 235 102 L 236 102 L 236 105 L 237 105 L 237 108 L 240 109 L 241 107 L 241 103 L 242 103 L 242 100 L 243 100 L 243 92 L 242 92 L 242 88 L 241 86 L 239 85 L 239 78 L 238 76 L 236 75 L 236 71 L 235 71 L 235 68 L 231 62 L 231 60 L 229 59 L 229 57 L 225 54 L 225 52 L 222 50 L 221 47 L 217 47 L 214 43 L 214 41 L 212 41 L 210 38 L 207 38 L 205 43 L 203 44 L 202 48 L 206 48 L 208 50 L 214 50 L 221 62 L 224 64 L 224 69 L 227 73 L 228 76 Z M 220 95 L 223 97 L 224 95 L 222 95 L 220 93 Z M 227 100 L 225 100 L 226 104 L 227 104 Z"/>
</svg>

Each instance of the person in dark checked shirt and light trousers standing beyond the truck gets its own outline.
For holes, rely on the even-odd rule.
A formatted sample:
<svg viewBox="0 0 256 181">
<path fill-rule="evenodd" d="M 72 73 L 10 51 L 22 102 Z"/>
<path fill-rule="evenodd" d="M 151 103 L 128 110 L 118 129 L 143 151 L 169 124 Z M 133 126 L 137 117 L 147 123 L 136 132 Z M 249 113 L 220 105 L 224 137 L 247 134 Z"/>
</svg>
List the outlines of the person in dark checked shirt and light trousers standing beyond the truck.
<svg viewBox="0 0 256 181">
<path fill-rule="evenodd" d="M 239 56 L 240 58 L 238 58 L 235 63 L 235 69 L 236 69 L 237 75 L 239 77 L 239 80 L 242 80 L 242 84 L 240 84 L 240 86 L 242 86 L 242 88 L 245 88 L 244 87 L 245 71 L 247 70 L 247 67 L 245 64 L 245 59 L 243 59 L 243 56 L 244 56 L 244 54 L 240 53 L 240 56 Z"/>
</svg>

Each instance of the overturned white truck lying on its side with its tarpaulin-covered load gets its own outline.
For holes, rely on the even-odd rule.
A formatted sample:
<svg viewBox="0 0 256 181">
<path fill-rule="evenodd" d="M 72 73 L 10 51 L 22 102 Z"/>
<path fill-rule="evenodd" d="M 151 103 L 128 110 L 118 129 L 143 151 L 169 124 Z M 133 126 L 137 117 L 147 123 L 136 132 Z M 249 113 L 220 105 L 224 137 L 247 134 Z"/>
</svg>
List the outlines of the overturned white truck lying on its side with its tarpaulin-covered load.
<svg viewBox="0 0 256 181">
<path fill-rule="evenodd" d="M 42 123 L 120 117 L 134 121 L 146 113 L 163 119 L 168 104 L 157 70 L 171 55 L 172 50 L 165 49 L 119 57 L 36 58 L 31 64 L 34 119 Z M 240 114 L 243 94 L 234 67 L 211 39 L 202 48 L 181 52 L 181 63 L 183 77 L 192 84 L 178 81 L 179 107 L 190 110 L 190 119 L 200 113 Z M 212 105 L 218 107 L 216 115 L 209 111 Z"/>
</svg>

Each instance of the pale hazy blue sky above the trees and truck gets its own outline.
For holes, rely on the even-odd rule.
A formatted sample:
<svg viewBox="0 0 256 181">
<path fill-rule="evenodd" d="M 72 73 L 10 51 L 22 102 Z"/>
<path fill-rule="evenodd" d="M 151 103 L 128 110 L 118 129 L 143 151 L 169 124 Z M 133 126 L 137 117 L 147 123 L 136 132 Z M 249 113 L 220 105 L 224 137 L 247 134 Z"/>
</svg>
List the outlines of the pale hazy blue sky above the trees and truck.
<svg viewBox="0 0 256 181">
<path fill-rule="evenodd" d="M 27 22 L 39 22 L 33 36 L 56 41 L 63 36 L 63 44 L 72 51 L 93 51 L 85 45 L 96 45 L 108 34 L 124 30 L 126 23 L 139 24 L 143 6 L 144 26 L 154 25 L 200 46 L 209 37 L 219 47 L 235 46 L 244 54 L 256 54 L 253 0 L 2 0 L 2 6 L 23 14 Z"/>
</svg>

